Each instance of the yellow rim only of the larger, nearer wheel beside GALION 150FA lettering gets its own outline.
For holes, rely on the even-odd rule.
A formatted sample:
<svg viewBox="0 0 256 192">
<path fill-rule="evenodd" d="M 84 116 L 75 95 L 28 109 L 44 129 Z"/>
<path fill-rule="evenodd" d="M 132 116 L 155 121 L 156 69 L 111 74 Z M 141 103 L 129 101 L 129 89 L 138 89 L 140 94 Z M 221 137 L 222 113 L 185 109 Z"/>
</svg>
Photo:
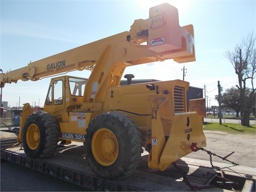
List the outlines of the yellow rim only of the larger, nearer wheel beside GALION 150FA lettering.
<svg viewBox="0 0 256 192">
<path fill-rule="evenodd" d="M 99 164 L 110 166 L 115 163 L 118 149 L 118 141 L 112 131 L 101 128 L 94 133 L 92 137 L 92 154 Z"/>
</svg>

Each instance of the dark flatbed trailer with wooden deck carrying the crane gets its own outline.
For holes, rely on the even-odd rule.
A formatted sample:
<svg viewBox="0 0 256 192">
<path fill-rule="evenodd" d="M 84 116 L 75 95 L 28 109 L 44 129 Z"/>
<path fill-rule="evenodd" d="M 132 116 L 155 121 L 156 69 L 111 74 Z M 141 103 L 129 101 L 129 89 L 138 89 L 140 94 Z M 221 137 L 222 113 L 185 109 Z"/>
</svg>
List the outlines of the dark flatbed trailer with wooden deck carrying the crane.
<svg viewBox="0 0 256 192">
<path fill-rule="evenodd" d="M 72 142 L 59 147 L 51 158 L 33 159 L 27 157 L 20 147 L 13 147 L 1 149 L 1 159 L 92 191 L 255 191 L 255 168 L 214 162 L 223 170 L 222 173 L 209 166 L 209 161 L 183 157 L 175 166 L 171 165 L 162 172 L 148 169 L 147 151 L 130 177 L 110 181 L 91 171 L 83 151 L 82 143 Z"/>
</svg>

